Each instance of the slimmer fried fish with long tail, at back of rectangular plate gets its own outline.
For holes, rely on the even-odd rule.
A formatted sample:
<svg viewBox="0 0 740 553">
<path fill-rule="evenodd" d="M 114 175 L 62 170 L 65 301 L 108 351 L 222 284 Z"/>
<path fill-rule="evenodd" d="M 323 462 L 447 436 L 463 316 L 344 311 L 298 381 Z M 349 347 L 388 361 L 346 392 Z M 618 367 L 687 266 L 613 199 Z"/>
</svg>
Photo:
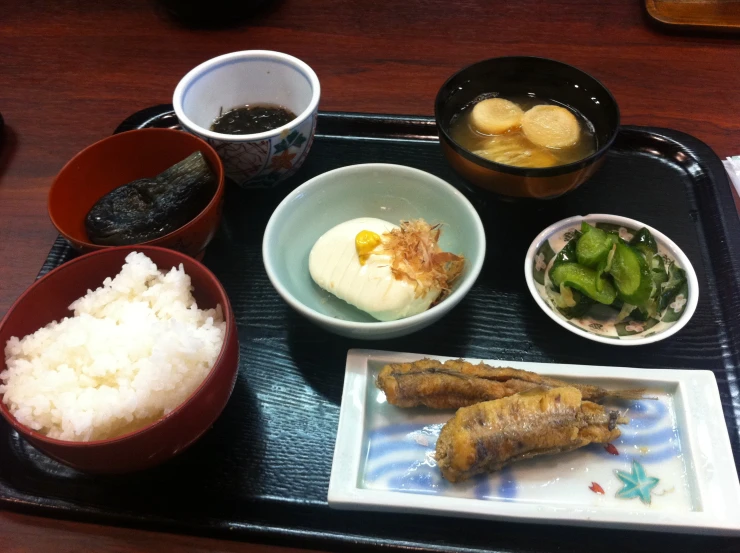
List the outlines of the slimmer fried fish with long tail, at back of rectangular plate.
<svg viewBox="0 0 740 553">
<path fill-rule="evenodd" d="M 610 391 L 599 386 L 570 384 L 510 367 L 491 367 L 483 363 L 473 365 L 462 360 L 441 363 L 432 359 L 386 365 L 378 374 L 375 384 L 385 392 L 391 405 L 425 405 L 433 409 L 459 409 L 538 387 L 571 386 L 580 390 L 583 398 L 590 401 L 605 397 L 641 399 L 645 391 Z"/>
</svg>

